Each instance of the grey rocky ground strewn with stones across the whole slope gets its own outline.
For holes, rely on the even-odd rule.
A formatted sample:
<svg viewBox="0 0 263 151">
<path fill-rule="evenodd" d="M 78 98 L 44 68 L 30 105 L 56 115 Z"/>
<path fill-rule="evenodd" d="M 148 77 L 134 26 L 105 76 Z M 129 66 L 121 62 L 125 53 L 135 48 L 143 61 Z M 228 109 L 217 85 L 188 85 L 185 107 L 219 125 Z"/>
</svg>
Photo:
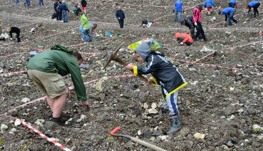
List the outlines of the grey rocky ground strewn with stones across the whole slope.
<svg viewBox="0 0 263 151">
<path fill-rule="evenodd" d="M 137 64 L 132 60 L 133 52 L 126 47 L 142 37 L 154 38 L 164 44 L 161 52 L 171 59 L 195 61 L 209 54 L 201 50 L 210 48 L 216 50 L 216 53 L 199 62 L 246 70 L 230 71 L 174 61 L 189 84 L 180 90 L 178 97 L 183 129 L 173 136 L 166 135 L 170 129 L 170 122 L 168 115 L 160 111 L 160 88 L 146 86 L 137 77 L 104 77 L 99 81 L 102 82 L 101 87 L 99 83 L 86 85 L 88 101 L 92 106 L 90 110 L 80 107 L 76 94 L 72 91 L 63 111 L 63 114 L 70 115 L 72 120 L 65 127 L 49 124 L 51 111 L 45 100 L 20 107 L 10 115 L 25 119 L 45 135 L 57 138 L 59 143 L 68 148 L 74 147 L 77 151 L 150 151 L 131 141 L 109 137 L 108 134 L 116 126 L 131 136 L 139 137 L 168 151 L 263 151 L 263 78 L 262 75 L 255 74 L 263 73 L 263 45 L 242 46 L 262 40 L 258 31 L 262 27 L 263 18 L 260 15 L 258 20 L 253 20 L 252 13 L 244 15 L 244 6 L 248 1 L 242 0 L 239 3 L 236 13 L 239 22 L 232 27 L 224 27 L 222 24 L 211 26 L 224 20 L 224 16 L 217 15 L 217 12 L 220 8 L 227 7 L 227 2 L 215 0 L 217 8 L 213 14 L 203 13 L 203 28 L 210 27 L 205 29 L 209 42 L 199 41 L 189 47 L 178 45 L 174 39 L 175 32 L 186 32 L 187 29 L 173 21 L 172 0 L 89 1 L 87 16 L 90 21 L 100 23 L 95 31 L 99 37 L 87 45 L 77 45 L 82 43 L 77 29 L 79 17 L 69 15 L 69 23 L 48 19 L 53 13 L 53 1 L 44 0 L 45 6 L 39 7 L 38 1 L 33 0 L 30 8 L 26 8 L 23 2 L 15 4 L 14 1 L 0 1 L 0 18 L 6 17 L 3 27 L 21 27 L 22 35 L 20 44 L 1 41 L 8 45 L 0 44 L 0 56 L 46 50 L 55 44 L 69 46 L 70 49 L 79 52 L 102 52 L 103 54 L 84 61 L 85 64 L 89 64 L 88 69 L 81 70 L 84 82 L 103 76 L 129 74 L 115 62 L 111 62 L 108 68 L 103 70 L 107 60 L 106 54 L 125 42 L 123 50 L 126 51 L 119 52 L 120 57 L 126 62 Z M 67 2 L 70 8 L 73 8 L 78 0 Z M 191 7 L 199 1 L 184 2 L 186 8 L 189 8 L 183 15 L 185 17 L 191 15 Z M 126 15 L 124 30 L 119 30 L 114 16 L 116 6 L 121 3 Z M 259 10 L 261 12 L 261 8 Z M 160 17 L 163 18 L 158 19 Z M 154 28 L 143 29 L 138 25 L 144 19 L 158 20 L 155 21 Z M 40 22 L 45 28 L 31 34 L 31 28 Z M 106 38 L 107 31 L 112 32 L 113 38 Z M 61 32 L 63 33 L 57 34 Z M 116 36 L 117 33 L 122 35 Z M 234 46 L 234 49 L 230 49 Z M 29 54 L 16 54 L 1 58 L 0 72 L 24 70 L 30 57 Z M 68 86 L 72 85 L 70 76 L 65 76 L 64 79 Z M 1 114 L 41 97 L 26 74 L 1 76 L 0 95 Z M 146 115 L 145 110 L 152 106 L 158 113 Z M 6 117 L 0 117 L 0 125 L 2 151 L 60 150 L 27 127 L 17 125 Z"/>
</svg>

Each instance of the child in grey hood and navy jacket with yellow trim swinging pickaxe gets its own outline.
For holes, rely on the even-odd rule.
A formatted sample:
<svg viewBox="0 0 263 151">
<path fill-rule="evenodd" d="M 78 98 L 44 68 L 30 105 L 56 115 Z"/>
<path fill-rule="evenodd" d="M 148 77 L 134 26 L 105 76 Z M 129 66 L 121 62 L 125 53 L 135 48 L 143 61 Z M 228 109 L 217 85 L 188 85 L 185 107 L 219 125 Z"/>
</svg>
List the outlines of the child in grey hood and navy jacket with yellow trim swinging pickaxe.
<svg viewBox="0 0 263 151">
<path fill-rule="evenodd" d="M 151 51 L 149 45 L 141 43 L 136 47 L 135 58 L 139 62 L 146 62 L 146 66 L 136 66 L 132 63 L 125 66 L 126 70 L 133 70 L 135 75 L 154 76 L 148 80 L 148 85 L 160 85 L 163 94 L 162 111 L 170 111 L 171 129 L 168 134 L 174 134 L 182 129 L 177 106 L 178 91 L 186 86 L 186 79 L 173 65 L 170 59 L 158 51 Z"/>
</svg>

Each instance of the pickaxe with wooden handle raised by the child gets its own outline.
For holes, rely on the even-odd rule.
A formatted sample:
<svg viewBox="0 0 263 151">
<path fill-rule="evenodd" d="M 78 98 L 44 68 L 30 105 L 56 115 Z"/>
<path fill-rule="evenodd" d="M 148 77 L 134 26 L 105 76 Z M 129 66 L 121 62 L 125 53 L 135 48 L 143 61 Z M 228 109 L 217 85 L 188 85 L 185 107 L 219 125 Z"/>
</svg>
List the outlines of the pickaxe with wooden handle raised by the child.
<svg viewBox="0 0 263 151">
<path fill-rule="evenodd" d="M 111 54 L 111 56 L 109 57 L 108 61 L 106 62 L 105 66 L 104 66 L 104 69 L 105 69 L 106 66 L 109 64 L 109 62 L 112 61 L 112 60 L 114 60 L 114 61 L 122 64 L 124 67 L 128 65 L 126 62 L 124 62 L 123 60 L 121 60 L 121 59 L 118 58 L 118 56 L 117 56 L 120 48 L 121 48 L 123 45 L 124 45 L 124 42 L 123 42 L 121 45 L 119 45 L 119 46 L 117 47 L 117 49 Z M 131 70 L 131 72 L 133 73 L 133 70 Z M 142 81 L 144 81 L 144 82 L 146 82 L 146 83 L 148 82 L 148 79 L 145 78 L 144 76 L 142 76 L 142 75 L 137 75 L 137 76 L 138 76 Z"/>
</svg>

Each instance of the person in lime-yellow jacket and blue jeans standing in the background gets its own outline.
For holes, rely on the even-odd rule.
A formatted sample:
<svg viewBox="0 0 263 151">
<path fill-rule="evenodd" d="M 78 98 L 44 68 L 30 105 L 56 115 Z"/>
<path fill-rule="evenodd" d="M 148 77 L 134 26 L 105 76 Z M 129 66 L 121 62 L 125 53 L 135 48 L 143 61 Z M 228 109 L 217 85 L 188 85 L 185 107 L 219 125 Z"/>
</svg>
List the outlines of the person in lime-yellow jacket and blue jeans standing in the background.
<svg viewBox="0 0 263 151">
<path fill-rule="evenodd" d="M 86 15 L 83 12 L 78 13 L 78 15 L 80 16 L 80 21 L 81 21 L 81 27 L 80 27 L 80 31 L 82 31 L 82 38 L 84 40 L 84 44 L 86 44 L 88 42 L 88 32 L 89 32 L 89 20 L 86 17 Z M 81 29 L 82 28 L 82 29 Z"/>
</svg>

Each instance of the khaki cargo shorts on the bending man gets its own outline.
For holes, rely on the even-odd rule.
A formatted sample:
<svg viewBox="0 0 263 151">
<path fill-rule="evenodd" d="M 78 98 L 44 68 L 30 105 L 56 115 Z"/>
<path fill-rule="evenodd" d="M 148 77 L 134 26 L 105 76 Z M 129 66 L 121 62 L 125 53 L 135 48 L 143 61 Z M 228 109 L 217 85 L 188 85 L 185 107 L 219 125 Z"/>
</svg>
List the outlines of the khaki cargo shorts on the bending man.
<svg viewBox="0 0 263 151">
<path fill-rule="evenodd" d="M 61 75 L 57 73 L 45 73 L 38 70 L 28 70 L 27 72 L 35 82 L 39 91 L 44 95 L 48 95 L 50 98 L 55 98 L 67 93 Z"/>
</svg>

